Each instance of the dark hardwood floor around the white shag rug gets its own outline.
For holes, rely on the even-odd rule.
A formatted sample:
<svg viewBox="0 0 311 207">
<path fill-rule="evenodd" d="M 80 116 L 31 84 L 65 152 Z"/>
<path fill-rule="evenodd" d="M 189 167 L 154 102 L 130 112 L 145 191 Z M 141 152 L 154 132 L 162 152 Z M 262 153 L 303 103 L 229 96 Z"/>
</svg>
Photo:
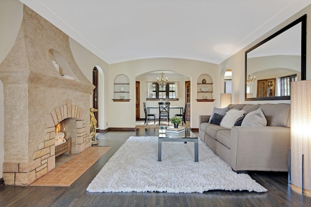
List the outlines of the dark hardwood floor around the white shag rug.
<svg viewBox="0 0 311 207">
<path fill-rule="evenodd" d="M 287 184 L 287 173 L 249 173 L 268 189 L 265 193 L 213 190 L 204 193 L 89 193 L 86 187 L 108 159 L 130 136 L 157 136 L 157 129 L 110 131 L 104 137 L 112 148 L 70 187 L 0 188 L 0 207 L 302 207 L 311 206 L 311 197 L 302 196 Z"/>
</svg>

